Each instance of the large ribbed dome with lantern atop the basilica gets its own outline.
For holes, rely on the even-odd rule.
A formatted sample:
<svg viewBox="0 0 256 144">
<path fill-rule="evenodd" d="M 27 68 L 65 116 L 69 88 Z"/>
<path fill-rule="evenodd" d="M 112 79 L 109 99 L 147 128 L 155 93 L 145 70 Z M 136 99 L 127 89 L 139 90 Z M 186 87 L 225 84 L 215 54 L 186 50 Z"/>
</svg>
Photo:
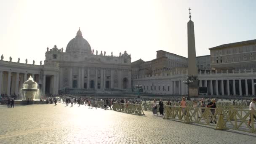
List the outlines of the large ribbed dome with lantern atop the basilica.
<svg viewBox="0 0 256 144">
<path fill-rule="evenodd" d="M 82 36 L 82 32 L 77 31 L 75 38 L 69 41 L 66 48 L 67 53 L 91 53 L 91 46 Z"/>
</svg>

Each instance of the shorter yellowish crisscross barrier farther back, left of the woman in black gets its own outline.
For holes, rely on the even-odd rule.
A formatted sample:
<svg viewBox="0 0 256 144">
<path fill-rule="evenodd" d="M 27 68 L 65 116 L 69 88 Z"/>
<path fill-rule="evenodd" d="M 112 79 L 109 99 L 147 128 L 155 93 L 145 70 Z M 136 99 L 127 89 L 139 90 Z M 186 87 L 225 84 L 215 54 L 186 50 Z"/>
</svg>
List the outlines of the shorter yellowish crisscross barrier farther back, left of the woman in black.
<svg viewBox="0 0 256 144">
<path fill-rule="evenodd" d="M 124 104 L 114 102 L 113 110 L 117 112 L 126 112 L 129 114 L 145 115 L 141 104 Z"/>
</svg>

